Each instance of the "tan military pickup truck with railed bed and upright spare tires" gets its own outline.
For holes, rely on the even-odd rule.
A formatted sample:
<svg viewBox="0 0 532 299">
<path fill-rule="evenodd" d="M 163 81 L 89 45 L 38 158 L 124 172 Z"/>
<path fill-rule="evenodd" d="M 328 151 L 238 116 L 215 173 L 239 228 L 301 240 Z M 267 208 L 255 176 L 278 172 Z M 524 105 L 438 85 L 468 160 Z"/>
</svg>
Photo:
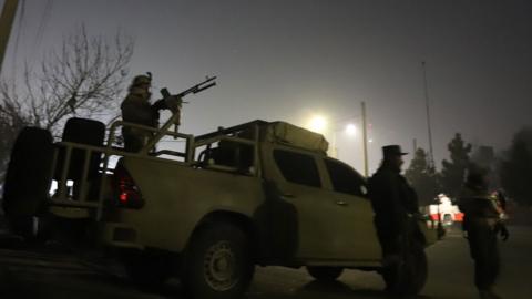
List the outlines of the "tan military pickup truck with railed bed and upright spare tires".
<svg viewBox="0 0 532 299">
<path fill-rule="evenodd" d="M 174 117 L 161 128 L 70 118 L 55 143 L 47 130 L 22 130 L 3 189 L 12 230 L 39 238 L 50 234 L 35 219 L 82 220 L 76 237 L 113 248 L 132 280 L 177 277 L 192 298 L 238 298 L 255 267 L 272 265 L 306 267 L 317 280 L 378 271 L 395 292 L 422 289 L 436 230 L 412 218 L 424 237 L 408 239 L 397 269 L 385 265 L 366 178 L 327 156 L 320 134 L 253 121 L 193 136 L 171 131 Z M 153 137 L 125 152 L 122 126 Z"/>
</svg>

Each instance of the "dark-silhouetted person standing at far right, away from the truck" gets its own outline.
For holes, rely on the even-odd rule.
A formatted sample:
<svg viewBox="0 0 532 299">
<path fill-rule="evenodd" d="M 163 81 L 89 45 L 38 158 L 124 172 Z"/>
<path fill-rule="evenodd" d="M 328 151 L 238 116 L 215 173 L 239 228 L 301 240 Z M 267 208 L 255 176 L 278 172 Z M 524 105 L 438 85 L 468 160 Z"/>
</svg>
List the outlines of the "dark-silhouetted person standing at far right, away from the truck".
<svg viewBox="0 0 532 299">
<path fill-rule="evenodd" d="M 474 285 L 480 298 L 501 298 L 493 291 L 499 275 L 499 250 L 497 235 L 503 240 L 509 237 L 499 198 L 490 195 L 489 172 L 472 165 L 459 198 L 459 208 L 464 213 L 463 229 L 474 260 Z"/>
</svg>

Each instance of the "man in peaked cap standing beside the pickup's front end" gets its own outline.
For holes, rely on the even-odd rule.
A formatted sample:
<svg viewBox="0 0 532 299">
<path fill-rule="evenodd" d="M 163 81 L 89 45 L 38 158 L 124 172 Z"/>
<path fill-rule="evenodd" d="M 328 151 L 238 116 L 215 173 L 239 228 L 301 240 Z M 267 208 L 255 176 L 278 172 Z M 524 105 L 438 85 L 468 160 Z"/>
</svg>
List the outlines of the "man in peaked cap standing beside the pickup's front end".
<svg viewBox="0 0 532 299">
<path fill-rule="evenodd" d="M 369 197 L 383 264 L 393 266 L 400 262 L 405 236 L 412 229 L 409 227 L 409 218 L 418 213 L 418 198 L 401 175 L 402 156 L 407 153 L 399 145 L 388 145 L 382 147 L 382 154 L 380 167 L 369 179 Z M 389 285 L 387 287 L 390 288 Z"/>
</svg>

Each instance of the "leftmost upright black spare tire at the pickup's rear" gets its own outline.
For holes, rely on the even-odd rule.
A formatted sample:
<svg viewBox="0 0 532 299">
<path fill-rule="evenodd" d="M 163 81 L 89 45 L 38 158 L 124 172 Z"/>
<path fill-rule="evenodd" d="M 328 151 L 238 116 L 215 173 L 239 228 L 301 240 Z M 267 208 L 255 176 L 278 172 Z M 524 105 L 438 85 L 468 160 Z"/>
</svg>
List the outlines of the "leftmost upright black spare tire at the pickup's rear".
<svg viewBox="0 0 532 299">
<path fill-rule="evenodd" d="M 12 233 L 34 237 L 33 217 L 49 197 L 53 138 L 48 130 L 24 127 L 17 136 L 3 185 L 3 210 Z"/>
</svg>

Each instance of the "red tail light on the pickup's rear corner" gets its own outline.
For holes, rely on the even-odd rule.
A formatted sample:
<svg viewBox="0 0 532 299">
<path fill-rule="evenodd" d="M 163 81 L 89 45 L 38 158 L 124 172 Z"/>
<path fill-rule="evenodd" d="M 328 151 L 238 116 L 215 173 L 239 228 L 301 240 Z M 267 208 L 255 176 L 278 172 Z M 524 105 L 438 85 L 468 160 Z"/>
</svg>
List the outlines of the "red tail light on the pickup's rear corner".
<svg viewBox="0 0 532 299">
<path fill-rule="evenodd" d="M 142 208 L 144 206 L 141 190 L 130 173 L 120 164 L 114 171 L 113 189 L 115 190 L 114 197 L 117 206 L 127 208 Z"/>
</svg>

